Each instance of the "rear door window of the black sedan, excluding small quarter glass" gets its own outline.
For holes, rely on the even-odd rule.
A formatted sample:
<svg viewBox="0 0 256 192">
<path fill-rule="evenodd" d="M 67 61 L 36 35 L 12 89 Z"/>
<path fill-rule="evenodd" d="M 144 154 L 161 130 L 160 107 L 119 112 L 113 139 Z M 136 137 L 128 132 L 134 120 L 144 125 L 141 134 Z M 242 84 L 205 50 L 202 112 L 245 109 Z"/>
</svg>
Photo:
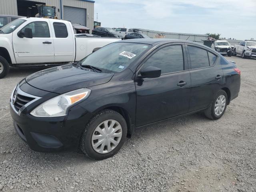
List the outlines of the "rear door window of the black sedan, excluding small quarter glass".
<svg viewBox="0 0 256 192">
<path fill-rule="evenodd" d="M 188 46 L 191 68 L 202 68 L 209 66 L 207 51 L 198 47 Z"/>
</svg>

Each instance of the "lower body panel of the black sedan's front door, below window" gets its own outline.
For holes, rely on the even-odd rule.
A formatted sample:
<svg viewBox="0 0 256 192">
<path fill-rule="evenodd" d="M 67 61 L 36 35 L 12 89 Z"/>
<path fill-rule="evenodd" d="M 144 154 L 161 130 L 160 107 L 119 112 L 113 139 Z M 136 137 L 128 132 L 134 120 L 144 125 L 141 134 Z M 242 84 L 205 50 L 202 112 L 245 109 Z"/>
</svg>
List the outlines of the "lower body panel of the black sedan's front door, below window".
<svg viewBox="0 0 256 192">
<path fill-rule="evenodd" d="M 187 84 L 177 86 L 180 81 Z M 136 82 L 136 92 L 136 126 L 185 114 L 189 107 L 190 72 L 146 78 Z"/>
</svg>

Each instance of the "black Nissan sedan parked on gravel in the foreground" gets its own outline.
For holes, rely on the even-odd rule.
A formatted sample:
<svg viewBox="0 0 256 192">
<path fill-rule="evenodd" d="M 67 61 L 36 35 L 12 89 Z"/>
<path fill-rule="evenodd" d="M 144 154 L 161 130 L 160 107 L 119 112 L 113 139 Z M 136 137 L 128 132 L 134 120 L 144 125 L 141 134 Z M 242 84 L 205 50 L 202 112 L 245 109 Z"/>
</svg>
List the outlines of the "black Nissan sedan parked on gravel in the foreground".
<svg viewBox="0 0 256 192">
<path fill-rule="evenodd" d="M 240 70 L 191 41 L 134 39 L 36 72 L 13 90 L 18 135 L 36 151 L 116 154 L 135 128 L 200 111 L 216 120 L 240 91 Z"/>
</svg>

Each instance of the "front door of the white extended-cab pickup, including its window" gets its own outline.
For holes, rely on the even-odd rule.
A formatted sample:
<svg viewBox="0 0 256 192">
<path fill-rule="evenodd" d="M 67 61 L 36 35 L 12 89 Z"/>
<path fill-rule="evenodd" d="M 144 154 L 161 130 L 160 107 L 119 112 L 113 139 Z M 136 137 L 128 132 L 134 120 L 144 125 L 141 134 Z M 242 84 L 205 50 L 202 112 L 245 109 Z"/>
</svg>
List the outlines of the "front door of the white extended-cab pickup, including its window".
<svg viewBox="0 0 256 192">
<path fill-rule="evenodd" d="M 33 38 L 18 37 L 19 31 L 32 29 Z M 12 36 L 13 50 L 17 64 L 54 62 L 54 45 L 50 22 L 33 21 L 20 26 Z"/>
</svg>

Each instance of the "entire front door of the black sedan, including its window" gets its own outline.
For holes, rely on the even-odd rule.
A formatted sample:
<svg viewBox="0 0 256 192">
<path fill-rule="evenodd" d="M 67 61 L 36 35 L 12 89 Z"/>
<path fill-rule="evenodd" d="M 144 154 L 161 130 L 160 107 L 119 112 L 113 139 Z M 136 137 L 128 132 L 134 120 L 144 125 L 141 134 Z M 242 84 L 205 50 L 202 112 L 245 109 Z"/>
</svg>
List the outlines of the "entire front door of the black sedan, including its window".
<svg viewBox="0 0 256 192">
<path fill-rule="evenodd" d="M 137 78 L 135 82 L 136 126 L 188 112 L 190 72 L 187 71 L 184 52 L 182 45 L 164 45 L 154 51 L 144 62 L 142 70 L 148 66 L 158 67 L 161 69 L 161 76 Z M 137 76 L 139 74 L 140 72 L 137 72 Z"/>
</svg>

